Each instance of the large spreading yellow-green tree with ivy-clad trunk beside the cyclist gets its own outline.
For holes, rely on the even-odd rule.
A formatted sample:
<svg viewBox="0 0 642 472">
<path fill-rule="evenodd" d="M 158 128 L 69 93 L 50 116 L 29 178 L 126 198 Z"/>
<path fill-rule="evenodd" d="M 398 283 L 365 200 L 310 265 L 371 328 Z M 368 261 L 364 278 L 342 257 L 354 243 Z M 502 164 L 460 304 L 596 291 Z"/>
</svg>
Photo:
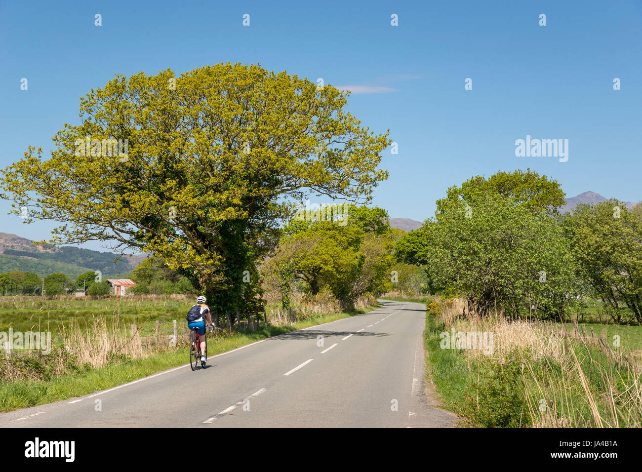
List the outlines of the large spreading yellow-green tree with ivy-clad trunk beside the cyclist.
<svg viewBox="0 0 642 472">
<path fill-rule="evenodd" d="M 391 140 L 345 111 L 349 92 L 285 72 L 227 63 L 187 71 L 175 89 L 169 78 L 117 75 L 92 89 L 49 159 L 30 146 L 4 170 L 0 197 L 61 222 L 51 243 L 116 239 L 216 304 L 254 310 L 257 261 L 291 215 L 284 199 L 311 189 L 369 202 Z M 128 140 L 126 157 L 107 150 L 110 139 Z"/>
</svg>

